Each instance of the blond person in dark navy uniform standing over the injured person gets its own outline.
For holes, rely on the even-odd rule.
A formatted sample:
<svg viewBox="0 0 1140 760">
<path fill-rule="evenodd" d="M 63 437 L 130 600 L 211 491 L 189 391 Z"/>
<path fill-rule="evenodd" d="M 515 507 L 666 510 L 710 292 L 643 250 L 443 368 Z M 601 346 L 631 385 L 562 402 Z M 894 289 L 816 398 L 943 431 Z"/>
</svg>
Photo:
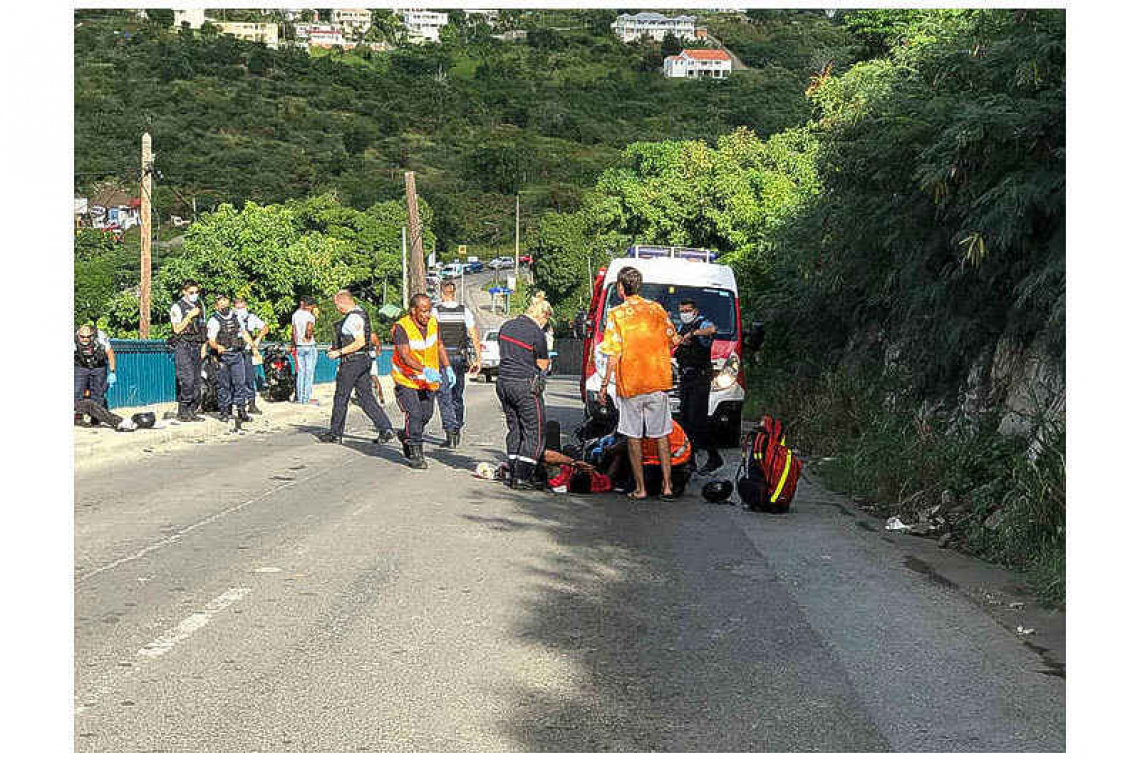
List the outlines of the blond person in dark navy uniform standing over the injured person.
<svg viewBox="0 0 1140 760">
<path fill-rule="evenodd" d="M 553 309 L 542 291 L 527 311 L 499 327 L 499 373 L 495 390 L 506 415 L 507 485 L 535 490 L 535 468 L 543 456 L 546 404 L 543 400 L 546 370 L 551 366 L 543 328 Z"/>
</svg>

